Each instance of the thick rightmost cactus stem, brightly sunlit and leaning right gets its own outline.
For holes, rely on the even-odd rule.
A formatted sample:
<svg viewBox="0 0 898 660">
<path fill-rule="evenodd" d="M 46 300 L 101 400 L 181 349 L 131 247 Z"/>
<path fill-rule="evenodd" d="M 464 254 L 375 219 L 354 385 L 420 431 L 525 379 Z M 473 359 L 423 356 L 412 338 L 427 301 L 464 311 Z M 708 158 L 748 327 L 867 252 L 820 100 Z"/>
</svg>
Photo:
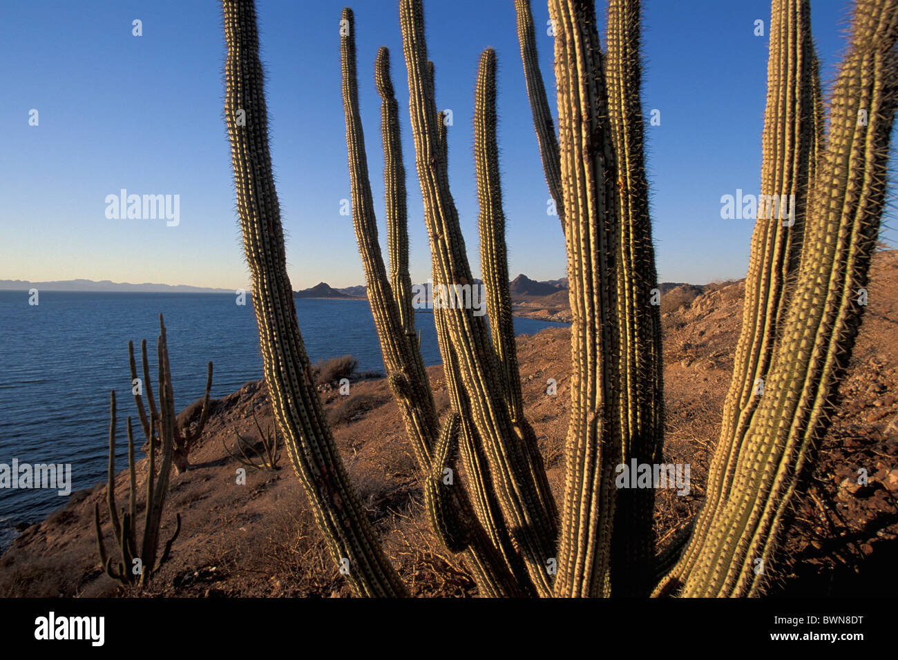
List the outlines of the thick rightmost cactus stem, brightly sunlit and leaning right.
<svg viewBox="0 0 898 660">
<path fill-rule="evenodd" d="M 690 546 L 659 593 L 682 587 L 683 595 L 756 595 L 769 582 L 864 312 L 858 290 L 867 286 L 876 245 L 898 104 L 896 44 L 898 0 L 858 0 L 850 49 L 832 92 L 828 145 L 815 163 L 796 290 L 763 394 L 744 440 L 721 438 L 718 455 L 728 481 L 714 484 L 716 500 L 709 503 L 718 506 L 703 509 Z M 814 114 L 811 101 L 806 135 L 812 144 Z M 742 373 L 737 365 L 735 387 Z"/>
</svg>

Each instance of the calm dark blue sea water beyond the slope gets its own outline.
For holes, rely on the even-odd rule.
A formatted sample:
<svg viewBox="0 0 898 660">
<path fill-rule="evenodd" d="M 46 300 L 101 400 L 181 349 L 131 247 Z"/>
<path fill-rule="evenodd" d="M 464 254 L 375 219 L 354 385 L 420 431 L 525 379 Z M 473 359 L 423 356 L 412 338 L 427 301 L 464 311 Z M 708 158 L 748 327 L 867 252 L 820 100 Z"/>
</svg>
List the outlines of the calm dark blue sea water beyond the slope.
<svg viewBox="0 0 898 660">
<path fill-rule="evenodd" d="M 309 358 L 351 354 L 360 370 L 383 373 L 374 319 L 366 300 L 299 299 L 296 315 Z M 119 408 L 119 469 L 125 467 L 125 418 L 136 420 L 130 393 L 128 340 L 147 340 L 156 388 L 158 315 L 165 317 L 175 407 L 203 395 L 206 364 L 215 365 L 212 396 L 259 380 L 262 359 L 251 299 L 240 306 L 229 294 L 96 294 L 0 291 L 0 463 L 71 463 L 72 490 L 106 479 L 109 392 Z M 442 362 L 430 313 L 418 313 L 421 352 L 427 365 Z M 563 323 L 515 319 L 517 334 Z M 143 434 L 136 430 L 136 441 Z M 0 544 L 13 524 L 37 522 L 65 500 L 56 490 L 0 489 Z"/>
</svg>

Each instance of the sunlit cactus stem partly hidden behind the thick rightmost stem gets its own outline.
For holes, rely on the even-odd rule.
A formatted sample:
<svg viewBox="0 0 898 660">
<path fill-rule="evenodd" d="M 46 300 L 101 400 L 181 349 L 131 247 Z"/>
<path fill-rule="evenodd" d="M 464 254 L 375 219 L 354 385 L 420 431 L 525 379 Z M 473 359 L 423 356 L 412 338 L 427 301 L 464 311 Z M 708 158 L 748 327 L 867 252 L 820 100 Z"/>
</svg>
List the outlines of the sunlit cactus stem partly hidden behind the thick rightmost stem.
<svg viewBox="0 0 898 660">
<path fill-rule="evenodd" d="M 720 434 L 720 445 L 727 451 L 715 453 L 711 463 L 708 497 L 695 531 L 697 538 L 708 532 L 712 512 L 726 504 L 734 479 L 735 456 L 762 400 L 755 392 L 762 391 L 768 378 L 773 348 L 782 332 L 788 286 L 794 285 L 797 275 L 807 197 L 823 139 L 823 117 L 818 105 L 820 81 L 810 22 L 807 0 L 773 0 L 762 138 L 762 195 L 776 200 L 776 213 L 768 203 L 762 203 L 758 209 L 742 332 Z M 693 545 L 684 554 L 683 567 L 692 566 L 695 551 Z"/>
</svg>

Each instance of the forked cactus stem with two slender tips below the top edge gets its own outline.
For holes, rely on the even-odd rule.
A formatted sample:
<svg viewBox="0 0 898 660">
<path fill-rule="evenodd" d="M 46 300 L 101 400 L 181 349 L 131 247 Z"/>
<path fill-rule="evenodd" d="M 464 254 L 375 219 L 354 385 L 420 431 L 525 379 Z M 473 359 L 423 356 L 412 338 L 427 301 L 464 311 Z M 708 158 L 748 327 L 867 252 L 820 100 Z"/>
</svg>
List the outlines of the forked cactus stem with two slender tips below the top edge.
<svg viewBox="0 0 898 660">
<path fill-rule="evenodd" d="M 345 28 L 340 40 L 343 107 L 346 115 L 353 223 L 358 250 L 365 267 L 368 301 L 381 342 L 383 363 L 394 397 L 405 419 L 406 431 L 418 462 L 425 505 L 437 538 L 448 550 L 462 552 L 483 595 L 521 594 L 496 546 L 480 526 L 461 483 L 446 484 L 444 471 L 453 471 L 454 452 L 462 428 L 455 412 L 437 427 L 436 407 L 414 331 L 409 277 L 409 236 L 406 228 L 405 169 L 402 166 L 398 104 L 390 79 L 390 54 L 381 48 L 375 61 L 375 80 L 381 94 L 381 130 L 385 161 L 387 228 L 392 286 L 387 280 L 368 177 L 365 138 L 358 110 L 356 25 L 352 10 L 341 17 Z M 455 374 L 445 364 L 447 379 Z M 456 410 L 463 409 L 462 404 Z M 464 425 L 467 428 L 467 423 Z"/>
</svg>

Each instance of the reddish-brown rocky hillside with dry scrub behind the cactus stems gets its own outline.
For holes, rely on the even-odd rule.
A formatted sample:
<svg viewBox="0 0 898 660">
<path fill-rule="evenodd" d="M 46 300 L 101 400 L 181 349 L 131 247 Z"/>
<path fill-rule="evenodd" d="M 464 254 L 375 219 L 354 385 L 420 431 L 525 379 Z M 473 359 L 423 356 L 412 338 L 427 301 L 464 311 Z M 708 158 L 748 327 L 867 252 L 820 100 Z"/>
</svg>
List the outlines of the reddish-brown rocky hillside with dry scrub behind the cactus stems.
<svg viewBox="0 0 898 660">
<path fill-rule="evenodd" d="M 691 465 L 691 491 L 660 490 L 656 504 L 662 546 L 698 511 L 742 319 L 743 283 L 711 286 L 700 295 L 667 297 L 665 312 L 665 462 Z M 667 292 L 670 296 L 675 290 Z M 666 303 L 666 304 L 665 304 Z M 823 442 L 821 460 L 788 530 L 788 557 L 768 567 L 772 595 L 885 595 L 894 584 L 898 550 L 898 251 L 876 255 L 869 306 L 841 406 Z M 564 480 L 569 405 L 569 330 L 543 330 L 518 339 L 527 413 L 556 496 Z M 441 367 L 428 369 L 441 412 L 449 407 Z M 558 383 L 547 393 L 547 381 Z M 416 595 L 471 596 L 476 586 L 462 565 L 433 539 L 422 512 L 417 470 L 399 410 L 383 380 L 353 383 L 351 393 L 323 388 L 330 425 L 383 546 Z M 182 518 L 172 558 L 150 594 L 176 596 L 339 596 L 339 576 L 314 524 L 283 449 L 275 471 L 249 471 L 225 451 L 235 432 L 257 439 L 252 411 L 273 425 L 264 383 L 247 383 L 217 400 L 193 468 L 172 474 L 163 538 L 174 513 Z M 138 492 L 147 465 L 138 462 Z M 858 484 L 858 471 L 867 484 Z M 116 482 L 127 497 L 127 474 Z M 92 516 L 99 503 L 107 548 L 111 541 L 106 484 L 74 494 L 65 508 L 33 524 L 0 558 L 0 595 L 111 596 L 122 594 L 101 570 Z M 139 499 L 138 499 L 139 501 Z"/>
</svg>

